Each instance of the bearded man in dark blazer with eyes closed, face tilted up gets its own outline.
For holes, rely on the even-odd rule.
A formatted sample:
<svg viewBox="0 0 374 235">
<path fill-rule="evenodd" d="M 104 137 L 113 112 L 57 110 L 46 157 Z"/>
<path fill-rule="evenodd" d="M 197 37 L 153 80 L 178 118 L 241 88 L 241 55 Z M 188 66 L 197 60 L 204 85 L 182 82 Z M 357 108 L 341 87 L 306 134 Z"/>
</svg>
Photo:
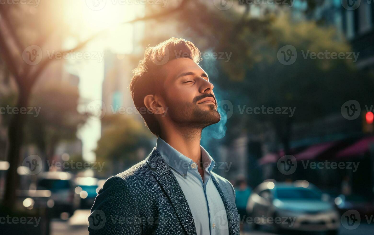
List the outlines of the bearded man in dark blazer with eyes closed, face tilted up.
<svg viewBox="0 0 374 235">
<path fill-rule="evenodd" d="M 170 38 L 147 48 L 130 83 L 156 147 L 110 177 L 89 216 L 90 234 L 238 235 L 232 184 L 212 172 L 201 132 L 220 121 L 208 75 L 193 43 Z"/>
</svg>

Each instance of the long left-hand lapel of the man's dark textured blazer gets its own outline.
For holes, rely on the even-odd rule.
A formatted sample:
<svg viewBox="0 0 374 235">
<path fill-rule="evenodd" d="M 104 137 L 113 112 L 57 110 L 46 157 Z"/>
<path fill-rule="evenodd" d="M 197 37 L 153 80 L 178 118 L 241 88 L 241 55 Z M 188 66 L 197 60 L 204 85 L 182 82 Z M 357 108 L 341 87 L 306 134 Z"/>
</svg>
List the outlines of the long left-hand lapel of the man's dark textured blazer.
<svg viewBox="0 0 374 235">
<path fill-rule="evenodd" d="M 159 181 L 162 188 L 168 195 L 177 216 L 188 235 L 196 235 L 196 227 L 193 221 L 191 209 L 188 206 L 187 199 L 179 185 L 170 167 L 159 151 L 154 148 L 150 155 L 145 159 L 152 170 L 153 176 Z M 226 206 L 226 205 L 225 205 Z"/>
</svg>

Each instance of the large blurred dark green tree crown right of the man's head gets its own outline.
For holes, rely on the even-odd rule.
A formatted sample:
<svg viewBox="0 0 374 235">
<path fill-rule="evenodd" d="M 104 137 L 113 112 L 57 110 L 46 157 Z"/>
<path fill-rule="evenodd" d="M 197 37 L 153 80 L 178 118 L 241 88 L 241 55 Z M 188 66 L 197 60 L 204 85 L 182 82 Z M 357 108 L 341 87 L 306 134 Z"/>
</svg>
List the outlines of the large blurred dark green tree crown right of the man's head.
<svg viewBox="0 0 374 235">
<path fill-rule="evenodd" d="M 234 91 L 230 94 L 236 104 L 295 107 L 292 122 L 304 122 L 340 112 L 340 106 L 347 100 L 370 100 L 372 92 L 369 88 L 373 81 L 355 69 L 353 59 L 304 58 L 312 52 L 352 52 L 346 42 L 338 40 L 339 35 L 334 29 L 318 27 L 313 21 L 292 23 L 286 17 L 271 21 L 268 29 L 272 36 L 264 37 L 244 30 L 242 37 L 250 42 L 250 49 L 236 57 L 233 55 L 227 63 L 221 62 L 229 81 L 224 78 L 218 83 Z M 278 50 L 285 45 L 292 45 L 297 50 L 294 64 L 284 65 L 278 61 Z M 236 76 L 237 70 L 244 74 L 243 77 Z M 279 115 L 252 116 L 271 122 L 282 118 Z"/>
</svg>

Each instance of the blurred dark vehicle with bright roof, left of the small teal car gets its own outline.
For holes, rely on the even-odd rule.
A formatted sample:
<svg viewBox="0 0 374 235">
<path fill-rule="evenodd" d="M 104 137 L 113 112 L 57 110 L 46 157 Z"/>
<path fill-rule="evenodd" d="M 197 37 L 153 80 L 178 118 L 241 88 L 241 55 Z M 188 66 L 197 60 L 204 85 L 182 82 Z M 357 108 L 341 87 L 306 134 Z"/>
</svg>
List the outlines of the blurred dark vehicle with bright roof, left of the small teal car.
<svg viewBox="0 0 374 235">
<path fill-rule="evenodd" d="M 74 193 L 73 175 L 62 171 L 49 171 L 40 174 L 37 189 L 50 190 L 53 200 L 53 214 L 67 212 L 72 215 L 79 207 L 79 196 Z"/>
</svg>

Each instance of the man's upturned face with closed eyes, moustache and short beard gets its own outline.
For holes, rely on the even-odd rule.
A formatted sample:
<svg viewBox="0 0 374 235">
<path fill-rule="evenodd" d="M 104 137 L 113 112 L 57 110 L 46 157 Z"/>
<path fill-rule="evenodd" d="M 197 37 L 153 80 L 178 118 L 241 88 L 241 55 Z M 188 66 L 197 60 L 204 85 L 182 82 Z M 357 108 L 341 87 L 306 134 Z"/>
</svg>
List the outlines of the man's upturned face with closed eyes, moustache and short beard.
<svg viewBox="0 0 374 235">
<path fill-rule="evenodd" d="M 179 125 L 204 128 L 217 123 L 221 115 L 208 75 L 189 58 L 177 58 L 163 65 L 166 79 L 162 97 L 168 116 Z"/>
</svg>

